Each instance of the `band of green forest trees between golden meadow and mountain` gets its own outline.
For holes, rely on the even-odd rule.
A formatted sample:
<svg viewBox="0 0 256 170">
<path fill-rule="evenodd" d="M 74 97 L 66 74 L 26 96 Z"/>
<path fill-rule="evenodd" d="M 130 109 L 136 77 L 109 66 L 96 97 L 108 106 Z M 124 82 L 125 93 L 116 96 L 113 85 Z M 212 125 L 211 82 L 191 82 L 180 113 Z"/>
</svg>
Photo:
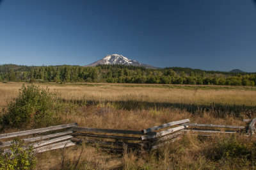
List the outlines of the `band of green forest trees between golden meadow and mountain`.
<svg viewBox="0 0 256 170">
<path fill-rule="evenodd" d="M 255 86 L 256 73 L 204 71 L 192 68 L 145 68 L 125 65 L 0 65 L 2 82 L 116 82 Z"/>
</svg>

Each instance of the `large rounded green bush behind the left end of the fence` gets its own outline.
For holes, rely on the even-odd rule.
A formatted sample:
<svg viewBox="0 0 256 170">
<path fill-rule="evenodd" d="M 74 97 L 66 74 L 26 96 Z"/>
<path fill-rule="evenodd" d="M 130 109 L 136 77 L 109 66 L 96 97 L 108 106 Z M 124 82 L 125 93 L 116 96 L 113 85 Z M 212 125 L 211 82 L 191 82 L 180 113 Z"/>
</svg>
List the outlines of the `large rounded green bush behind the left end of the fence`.
<svg viewBox="0 0 256 170">
<path fill-rule="evenodd" d="M 54 118 L 51 108 L 56 103 L 54 96 L 48 88 L 39 88 L 33 84 L 22 85 L 19 96 L 7 105 L 1 123 L 12 127 L 28 126 L 29 123 L 51 125 Z"/>
</svg>

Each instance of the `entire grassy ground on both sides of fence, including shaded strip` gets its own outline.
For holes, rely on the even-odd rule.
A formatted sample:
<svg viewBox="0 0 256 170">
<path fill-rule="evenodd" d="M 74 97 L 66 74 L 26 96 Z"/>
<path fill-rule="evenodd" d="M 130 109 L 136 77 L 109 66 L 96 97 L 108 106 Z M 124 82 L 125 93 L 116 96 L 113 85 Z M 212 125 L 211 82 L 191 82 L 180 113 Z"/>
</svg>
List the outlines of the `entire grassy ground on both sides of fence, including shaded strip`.
<svg viewBox="0 0 256 170">
<path fill-rule="evenodd" d="M 58 123 L 77 122 L 81 127 L 141 130 L 186 118 L 193 123 L 245 125 L 243 118 L 256 116 L 256 90 L 242 86 L 36 85 L 60 94 Z M 0 83 L 1 109 L 17 97 L 21 86 Z M 198 138 L 188 134 L 147 153 L 108 153 L 86 144 L 48 151 L 37 155 L 36 169 L 255 169 L 255 155 L 255 139 L 243 135 Z"/>
</svg>

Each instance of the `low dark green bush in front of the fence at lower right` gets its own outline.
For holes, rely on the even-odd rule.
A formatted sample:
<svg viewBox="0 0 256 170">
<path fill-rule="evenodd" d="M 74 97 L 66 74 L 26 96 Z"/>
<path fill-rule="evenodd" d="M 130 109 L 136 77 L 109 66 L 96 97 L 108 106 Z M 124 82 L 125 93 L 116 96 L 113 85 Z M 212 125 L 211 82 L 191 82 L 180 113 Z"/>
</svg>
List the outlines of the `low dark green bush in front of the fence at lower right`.
<svg viewBox="0 0 256 170">
<path fill-rule="evenodd" d="M 202 155 L 219 169 L 248 169 L 256 163 L 256 143 L 254 139 L 237 135 L 217 137 L 211 146 L 202 150 Z"/>
</svg>

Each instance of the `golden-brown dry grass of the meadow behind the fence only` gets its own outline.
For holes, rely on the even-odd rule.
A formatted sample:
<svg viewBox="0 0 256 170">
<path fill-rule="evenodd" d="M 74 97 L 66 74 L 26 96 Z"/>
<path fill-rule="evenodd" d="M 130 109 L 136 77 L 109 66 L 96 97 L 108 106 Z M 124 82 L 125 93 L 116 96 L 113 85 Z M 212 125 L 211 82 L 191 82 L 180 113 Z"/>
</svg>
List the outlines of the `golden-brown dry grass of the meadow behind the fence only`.
<svg viewBox="0 0 256 170">
<path fill-rule="evenodd" d="M 188 109 L 179 107 L 148 107 L 145 109 L 125 110 L 116 107 L 116 103 L 108 101 L 133 101 L 124 103 L 124 105 L 136 105 L 139 102 L 154 103 L 173 103 L 178 104 L 208 104 L 211 102 L 220 104 L 241 104 L 256 105 L 256 91 L 244 89 L 170 89 L 158 87 L 126 87 L 125 84 L 115 86 L 115 84 L 37 84 L 38 86 L 48 87 L 51 91 L 60 93 L 61 98 L 70 102 L 64 102 L 60 113 L 60 119 L 63 123 L 77 122 L 83 127 L 95 128 L 119 128 L 141 130 L 155 125 L 167 123 L 169 121 L 189 118 L 195 123 L 223 123 L 226 125 L 238 125 L 241 118 L 237 119 L 234 114 L 226 114 L 227 111 L 221 111 L 212 107 L 212 110 L 200 110 L 200 114 L 193 114 Z M 0 106 L 3 108 L 8 101 L 16 97 L 19 93 L 22 83 L 0 83 Z M 76 104 L 76 100 L 95 100 L 107 101 L 98 102 L 95 105 Z M 135 102 L 134 102 L 135 101 Z M 138 101 L 138 102 L 136 102 Z M 198 106 L 193 106 L 197 108 Z M 240 108 L 240 107 L 239 107 Z M 239 112 L 237 107 L 234 108 Z M 253 111 L 253 110 L 250 110 Z M 221 116 L 219 114 L 225 114 Z M 254 115 L 255 112 L 250 113 Z M 249 115 L 249 116 L 250 116 Z M 241 115 L 239 114 L 241 117 Z M 239 117 L 238 116 L 238 117 Z M 242 115 L 243 116 L 243 115 Z M 244 117 L 248 118 L 248 117 Z"/>
</svg>

